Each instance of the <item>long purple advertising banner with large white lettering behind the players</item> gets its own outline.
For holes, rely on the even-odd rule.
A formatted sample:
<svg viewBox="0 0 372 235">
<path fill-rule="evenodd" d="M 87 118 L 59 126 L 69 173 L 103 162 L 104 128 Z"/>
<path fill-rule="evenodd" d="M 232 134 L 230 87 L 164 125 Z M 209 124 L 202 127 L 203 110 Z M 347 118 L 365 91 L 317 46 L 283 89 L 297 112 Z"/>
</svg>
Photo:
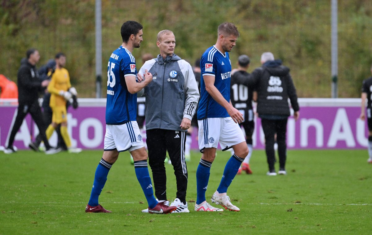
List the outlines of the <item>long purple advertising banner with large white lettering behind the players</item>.
<svg viewBox="0 0 372 235">
<path fill-rule="evenodd" d="M 87 99 L 93 100 L 93 99 Z M 299 99 L 301 100 L 301 99 Z M 314 99 L 321 100 L 321 99 Z M 342 100 L 342 99 L 337 99 Z M 346 100 L 346 99 L 345 99 Z M 330 148 L 366 148 L 368 145 L 368 129 L 365 121 L 359 119 L 359 99 L 351 103 L 311 103 L 300 102 L 300 118 L 295 122 L 293 117 L 288 119 L 287 146 L 289 149 L 330 149 Z M 80 99 L 80 107 L 68 110 L 68 132 L 71 136 L 72 147 L 84 149 L 103 149 L 105 136 L 105 106 L 103 100 L 84 106 Z M 301 104 L 302 103 L 302 104 Z M 96 105 L 95 105 L 96 104 Z M 0 105 L 0 146 L 6 146 L 10 131 L 17 114 L 17 107 Z M 255 120 L 253 146 L 264 148 L 264 135 L 260 118 Z M 257 131 L 259 130 L 259 131 Z M 26 116 L 18 131 L 14 145 L 18 149 L 28 148 L 28 144 L 38 133 L 31 116 Z M 145 141 L 145 131 L 143 131 Z M 198 149 L 196 140 L 197 130 L 192 133 L 192 148 Z M 51 145 L 57 142 L 54 133 L 50 139 Z"/>
</svg>

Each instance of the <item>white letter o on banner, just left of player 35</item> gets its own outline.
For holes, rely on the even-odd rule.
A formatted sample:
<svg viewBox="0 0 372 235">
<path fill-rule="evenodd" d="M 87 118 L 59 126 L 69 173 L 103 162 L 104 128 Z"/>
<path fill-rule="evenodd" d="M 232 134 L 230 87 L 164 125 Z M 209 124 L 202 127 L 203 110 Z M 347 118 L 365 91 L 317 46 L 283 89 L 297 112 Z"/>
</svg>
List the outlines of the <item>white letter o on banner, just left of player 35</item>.
<svg viewBox="0 0 372 235">
<path fill-rule="evenodd" d="M 89 139 L 88 136 L 88 129 L 90 127 L 94 129 L 93 139 Z M 87 118 L 80 123 L 79 138 L 84 147 L 97 148 L 102 143 L 102 133 L 104 133 L 102 123 L 96 118 Z"/>
</svg>

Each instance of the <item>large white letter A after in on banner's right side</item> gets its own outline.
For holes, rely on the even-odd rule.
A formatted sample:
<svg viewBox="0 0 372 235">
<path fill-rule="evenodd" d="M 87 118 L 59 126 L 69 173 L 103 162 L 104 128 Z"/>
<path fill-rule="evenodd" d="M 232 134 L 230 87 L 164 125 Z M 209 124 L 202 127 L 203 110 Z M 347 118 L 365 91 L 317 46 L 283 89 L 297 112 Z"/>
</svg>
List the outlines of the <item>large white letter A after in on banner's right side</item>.
<svg viewBox="0 0 372 235">
<path fill-rule="evenodd" d="M 355 147 L 353 132 L 344 108 L 337 109 L 327 147 L 336 147 L 338 141 L 345 141 L 347 147 Z"/>
</svg>

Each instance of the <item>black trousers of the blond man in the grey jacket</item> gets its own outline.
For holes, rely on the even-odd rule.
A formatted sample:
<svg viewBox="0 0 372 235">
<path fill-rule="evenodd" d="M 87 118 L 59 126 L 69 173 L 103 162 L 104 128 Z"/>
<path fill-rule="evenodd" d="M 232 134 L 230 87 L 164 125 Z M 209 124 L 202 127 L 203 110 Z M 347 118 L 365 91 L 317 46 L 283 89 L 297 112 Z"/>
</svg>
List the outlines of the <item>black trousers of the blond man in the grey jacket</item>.
<svg viewBox="0 0 372 235">
<path fill-rule="evenodd" d="M 167 176 L 164 166 L 166 151 L 172 162 L 177 183 L 177 198 L 186 201 L 187 168 L 185 162 L 185 131 L 151 129 L 146 131 L 148 163 L 153 172 L 155 196 L 167 200 Z"/>
</svg>

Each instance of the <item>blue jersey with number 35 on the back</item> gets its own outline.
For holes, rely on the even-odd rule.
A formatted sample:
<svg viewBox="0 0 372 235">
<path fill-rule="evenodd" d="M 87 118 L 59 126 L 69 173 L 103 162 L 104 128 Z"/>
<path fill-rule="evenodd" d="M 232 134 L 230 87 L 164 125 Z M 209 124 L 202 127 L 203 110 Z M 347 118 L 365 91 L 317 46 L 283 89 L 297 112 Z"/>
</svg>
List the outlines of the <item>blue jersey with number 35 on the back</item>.
<svg viewBox="0 0 372 235">
<path fill-rule="evenodd" d="M 136 61 L 131 52 L 120 46 L 112 52 L 107 67 L 106 124 L 121 125 L 136 120 L 137 93 L 129 93 L 126 76 L 137 78 Z"/>
</svg>

